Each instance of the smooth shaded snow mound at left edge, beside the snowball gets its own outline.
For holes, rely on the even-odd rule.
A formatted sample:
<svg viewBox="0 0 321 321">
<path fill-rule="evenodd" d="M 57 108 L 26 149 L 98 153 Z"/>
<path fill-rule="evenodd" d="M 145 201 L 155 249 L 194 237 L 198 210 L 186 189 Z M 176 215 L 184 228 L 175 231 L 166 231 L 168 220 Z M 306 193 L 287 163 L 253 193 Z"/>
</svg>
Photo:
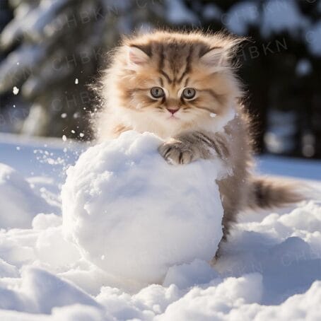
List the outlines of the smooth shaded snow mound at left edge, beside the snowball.
<svg viewBox="0 0 321 321">
<path fill-rule="evenodd" d="M 30 228 L 33 217 L 48 204 L 35 194 L 25 178 L 0 163 L 0 228 Z"/>
</svg>

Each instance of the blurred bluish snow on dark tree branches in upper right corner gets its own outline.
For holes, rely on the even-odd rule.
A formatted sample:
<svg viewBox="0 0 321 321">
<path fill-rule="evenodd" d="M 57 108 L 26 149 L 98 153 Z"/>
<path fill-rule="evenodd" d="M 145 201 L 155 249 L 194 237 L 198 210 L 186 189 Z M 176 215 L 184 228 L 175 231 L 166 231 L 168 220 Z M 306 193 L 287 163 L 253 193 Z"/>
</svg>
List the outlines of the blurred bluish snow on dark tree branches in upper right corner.
<svg viewBox="0 0 321 321">
<path fill-rule="evenodd" d="M 317 9 L 320 11 L 320 8 L 321 2 L 319 1 Z M 214 12 L 211 13 L 211 11 Z M 184 11 L 179 12 L 183 13 Z M 179 16 L 179 14 L 177 15 Z M 185 13 L 185 16 L 187 16 L 187 13 Z M 230 6 L 226 13 L 221 13 L 216 8 L 209 8 L 208 13 L 206 6 L 204 17 L 207 16 L 221 21 L 230 32 L 237 35 L 246 36 L 250 25 L 259 28 L 260 33 L 265 38 L 283 32 L 289 33 L 292 37 L 300 38 L 303 42 L 306 42 L 312 54 L 317 57 L 321 55 L 321 23 L 317 19 L 313 21 L 305 16 L 294 0 L 267 0 L 263 1 L 262 4 L 259 4 L 259 1 L 240 1 Z M 309 72 L 310 62 L 307 64 L 303 59 L 298 64 L 297 74 L 304 76 Z"/>
</svg>

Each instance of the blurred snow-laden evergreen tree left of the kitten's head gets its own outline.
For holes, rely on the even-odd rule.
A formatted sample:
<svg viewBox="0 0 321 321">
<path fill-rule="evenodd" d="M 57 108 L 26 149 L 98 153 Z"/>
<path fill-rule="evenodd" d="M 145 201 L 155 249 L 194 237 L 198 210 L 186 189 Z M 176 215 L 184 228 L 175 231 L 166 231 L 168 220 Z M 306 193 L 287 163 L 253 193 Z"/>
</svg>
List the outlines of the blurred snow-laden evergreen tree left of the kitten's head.
<svg viewBox="0 0 321 321">
<path fill-rule="evenodd" d="M 21 132 L 87 139 L 95 100 L 88 90 L 105 53 L 161 16 L 158 1 L 11 0 L 14 19 L 1 33 L 0 93 L 30 102 Z"/>
</svg>

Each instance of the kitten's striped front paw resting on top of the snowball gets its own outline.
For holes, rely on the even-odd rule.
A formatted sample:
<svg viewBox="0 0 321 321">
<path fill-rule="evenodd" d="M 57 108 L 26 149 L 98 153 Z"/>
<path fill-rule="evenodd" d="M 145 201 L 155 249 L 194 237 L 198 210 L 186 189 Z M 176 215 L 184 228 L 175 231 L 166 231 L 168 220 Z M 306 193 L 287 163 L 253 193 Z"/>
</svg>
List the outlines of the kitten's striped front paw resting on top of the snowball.
<svg viewBox="0 0 321 321">
<path fill-rule="evenodd" d="M 165 161 L 173 165 L 188 164 L 197 158 L 192 148 L 181 141 L 169 141 L 161 144 L 158 151 Z"/>
</svg>

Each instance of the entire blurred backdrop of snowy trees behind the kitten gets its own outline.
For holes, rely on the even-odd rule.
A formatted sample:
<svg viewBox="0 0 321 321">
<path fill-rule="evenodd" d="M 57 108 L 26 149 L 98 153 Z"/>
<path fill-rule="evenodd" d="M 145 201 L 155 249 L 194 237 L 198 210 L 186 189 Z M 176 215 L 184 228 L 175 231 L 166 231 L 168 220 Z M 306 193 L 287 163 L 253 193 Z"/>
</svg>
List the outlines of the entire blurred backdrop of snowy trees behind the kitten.
<svg viewBox="0 0 321 321">
<path fill-rule="evenodd" d="M 228 30 L 257 151 L 321 158 L 321 0 L 0 0 L 0 132 L 91 140 L 88 84 L 122 34 Z"/>
</svg>

